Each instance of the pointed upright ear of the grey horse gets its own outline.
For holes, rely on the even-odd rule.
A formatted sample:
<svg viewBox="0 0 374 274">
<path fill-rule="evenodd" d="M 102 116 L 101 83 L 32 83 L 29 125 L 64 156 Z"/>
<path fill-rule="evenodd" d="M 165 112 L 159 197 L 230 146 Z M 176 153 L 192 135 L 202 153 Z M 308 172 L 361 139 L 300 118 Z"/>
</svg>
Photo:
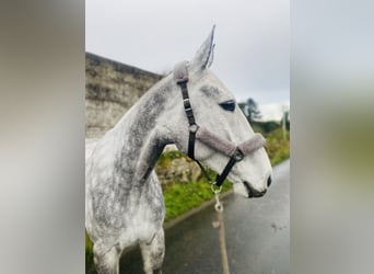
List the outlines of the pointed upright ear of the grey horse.
<svg viewBox="0 0 374 274">
<path fill-rule="evenodd" d="M 213 62 L 213 37 L 214 37 L 215 25 L 213 25 L 208 38 L 200 46 L 199 50 L 196 53 L 194 59 L 191 60 L 191 67 L 198 70 L 204 70 L 209 68 Z"/>
</svg>

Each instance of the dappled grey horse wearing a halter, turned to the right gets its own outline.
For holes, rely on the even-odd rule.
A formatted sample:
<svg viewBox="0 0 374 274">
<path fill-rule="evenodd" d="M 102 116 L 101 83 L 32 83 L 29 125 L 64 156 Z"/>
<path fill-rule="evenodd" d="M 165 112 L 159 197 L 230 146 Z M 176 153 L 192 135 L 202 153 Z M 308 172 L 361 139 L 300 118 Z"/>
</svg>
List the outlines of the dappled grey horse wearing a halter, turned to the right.
<svg viewBox="0 0 374 274">
<path fill-rule="evenodd" d="M 243 144 L 255 134 L 233 94 L 209 69 L 213 34 L 214 27 L 187 65 L 189 100 L 197 123 L 226 140 L 223 147 Z M 167 144 L 187 153 L 188 128 L 180 88 L 171 73 L 103 138 L 86 145 L 85 227 L 98 273 L 119 273 L 122 251 L 135 244 L 140 244 L 144 272 L 161 273 L 165 206 L 154 165 Z M 195 159 L 221 172 L 229 158 L 197 138 Z M 269 158 L 260 146 L 232 168 L 229 180 L 235 193 L 252 197 L 265 194 L 270 175 Z"/>
</svg>

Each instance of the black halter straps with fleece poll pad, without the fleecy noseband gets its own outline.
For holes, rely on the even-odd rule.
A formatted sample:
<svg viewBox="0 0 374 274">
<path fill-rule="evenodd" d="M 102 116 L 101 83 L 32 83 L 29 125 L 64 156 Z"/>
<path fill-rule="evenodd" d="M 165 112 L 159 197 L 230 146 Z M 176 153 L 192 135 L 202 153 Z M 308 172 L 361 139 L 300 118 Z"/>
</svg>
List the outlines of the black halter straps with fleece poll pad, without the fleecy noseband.
<svg viewBox="0 0 374 274">
<path fill-rule="evenodd" d="M 183 96 L 183 105 L 186 112 L 186 116 L 188 118 L 188 124 L 189 124 L 189 137 L 188 137 L 188 157 L 195 160 L 200 169 L 202 170 L 203 174 L 208 178 L 210 182 L 212 180 L 210 179 L 208 172 L 204 170 L 202 164 L 195 159 L 195 140 L 196 140 L 196 133 L 199 129 L 198 124 L 196 124 L 195 116 L 194 116 L 194 110 L 189 101 L 189 95 L 188 95 L 188 89 L 187 89 L 187 82 L 188 82 L 188 70 L 187 70 L 187 64 L 186 62 L 180 62 L 177 64 L 177 66 L 174 69 L 174 79 L 176 83 L 180 87 L 182 90 L 182 96 Z M 224 180 L 227 178 L 230 171 L 233 169 L 234 164 L 236 162 L 242 161 L 244 158 L 244 153 L 241 151 L 238 147 L 235 148 L 234 152 L 230 156 L 230 160 L 222 171 L 221 174 L 217 175 L 215 184 L 217 186 L 221 186 L 224 182 Z"/>
</svg>

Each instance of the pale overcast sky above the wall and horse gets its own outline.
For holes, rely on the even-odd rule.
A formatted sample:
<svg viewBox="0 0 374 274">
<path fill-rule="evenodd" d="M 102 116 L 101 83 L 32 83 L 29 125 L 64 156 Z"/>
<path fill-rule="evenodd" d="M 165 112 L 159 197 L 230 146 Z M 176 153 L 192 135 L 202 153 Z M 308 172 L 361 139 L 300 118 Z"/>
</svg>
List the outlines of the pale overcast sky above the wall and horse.
<svg viewBox="0 0 374 274">
<path fill-rule="evenodd" d="M 86 0 L 86 52 L 156 73 L 215 28 L 211 69 L 238 101 L 289 103 L 289 0 Z"/>
</svg>

